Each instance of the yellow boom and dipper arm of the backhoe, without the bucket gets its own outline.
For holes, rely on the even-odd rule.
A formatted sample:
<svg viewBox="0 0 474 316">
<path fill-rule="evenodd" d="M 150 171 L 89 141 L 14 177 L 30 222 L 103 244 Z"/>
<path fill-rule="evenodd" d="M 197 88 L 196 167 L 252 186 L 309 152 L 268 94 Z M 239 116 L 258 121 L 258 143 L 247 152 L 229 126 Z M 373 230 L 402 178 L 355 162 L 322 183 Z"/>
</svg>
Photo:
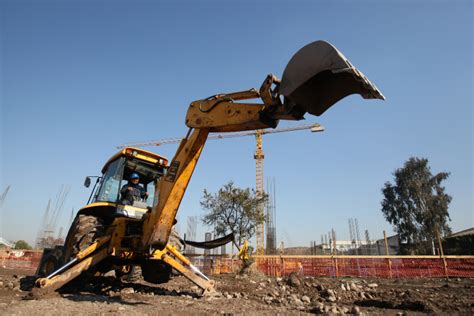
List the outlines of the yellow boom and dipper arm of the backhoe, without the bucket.
<svg viewBox="0 0 474 316">
<path fill-rule="evenodd" d="M 155 196 L 155 200 L 159 202 L 144 221 L 143 246 L 160 250 L 166 246 L 178 207 L 209 132 L 235 132 L 276 126 L 278 121 L 269 124 L 262 122 L 260 116 L 265 104 L 234 103 L 234 100 L 259 96 L 259 92 L 251 89 L 191 103 L 186 125 L 194 129 L 182 140 L 168 173 L 158 184 L 159 196 Z"/>
</svg>

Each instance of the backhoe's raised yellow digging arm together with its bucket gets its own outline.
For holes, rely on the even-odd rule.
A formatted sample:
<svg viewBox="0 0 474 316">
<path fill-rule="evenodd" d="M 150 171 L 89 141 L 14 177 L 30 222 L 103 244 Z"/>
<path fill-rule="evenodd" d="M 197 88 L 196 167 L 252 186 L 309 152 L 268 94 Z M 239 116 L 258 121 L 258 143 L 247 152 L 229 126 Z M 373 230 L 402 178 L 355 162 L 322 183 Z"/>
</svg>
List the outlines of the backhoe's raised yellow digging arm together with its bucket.
<svg viewBox="0 0 474 316">
<path fill-rule="evenodd" d="M 260 90 L 219 94 L 191 103 L 186 115 L 190 131 L 160 179 L 155 205 L 144 220 L 143 247 L 166 247 L 179 204 L 210 132 L 275 128 L 280 119 L 301 120 L 321 115 L 350 94 L 385 99 L 382 93 L 334 46 L 316 41 L 300 49 L 288 63 L 283 79 L 268 75 Z M 260 98 L 263 103 L 236 101 Z"/>
</svg>

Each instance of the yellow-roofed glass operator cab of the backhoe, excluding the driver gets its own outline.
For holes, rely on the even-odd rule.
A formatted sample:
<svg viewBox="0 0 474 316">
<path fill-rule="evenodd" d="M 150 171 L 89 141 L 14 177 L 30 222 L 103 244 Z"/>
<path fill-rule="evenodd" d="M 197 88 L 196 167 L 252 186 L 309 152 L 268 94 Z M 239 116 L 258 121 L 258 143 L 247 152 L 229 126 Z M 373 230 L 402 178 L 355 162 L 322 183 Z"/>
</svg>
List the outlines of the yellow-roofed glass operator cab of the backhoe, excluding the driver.
<svg viewBox="0 0 474 316">
<path fill-rule="evenodd" d="M 167 168 L 168 160 L 162 156 L 143 149 L 124 148 L 102 168 L 102 176 L 97 178 L 86 208 L 113 206 L 115 216 L 142 218 L 143 214 L 157 203 L 156 184 Z M 139 186 L 148 193 L 148 197 L 136 198 L 132 205 L 125 205 L 130 203 L 124 203 L 120 190 L 129 183 L 133 173 L 139 175 Z M 88 187 L 90 182 L 90 177 L 87 177 L 84 185 Z"/>
</svg>

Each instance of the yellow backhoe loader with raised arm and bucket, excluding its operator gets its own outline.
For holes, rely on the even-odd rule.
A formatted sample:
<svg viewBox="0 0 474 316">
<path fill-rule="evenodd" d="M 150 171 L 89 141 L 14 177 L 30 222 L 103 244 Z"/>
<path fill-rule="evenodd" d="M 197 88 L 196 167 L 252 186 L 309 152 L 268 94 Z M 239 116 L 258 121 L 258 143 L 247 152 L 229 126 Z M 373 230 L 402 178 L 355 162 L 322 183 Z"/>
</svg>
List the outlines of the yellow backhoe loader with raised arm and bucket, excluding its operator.
<svg viewBox="0 0 474 316">
<path fill-rule="evenodd" d="M 166 282 L 172 268 L 198 285 L 213 282 L 179 252 L 172 227 L 209 133 L 275 128 L 279 120 L 316 116 L 351 95 L 384 99 L 379 90 L 334 46 L 316 41 L 290 60 L 281 81 L 268 75 L 259 90 L 222 93 L 190 104 L 189 132 L 171 162 L 137 148 L 114 155 L 96 180 L 88 205 L 77 214 L 63 247 L 42 259 L 33 291 L 56 290 L 85 272 L 127 273 L 141 266 L 144 279 Z M 260 99 L 260 102 L 246 100 Z M 124 203 L 121 188 L 132 173 L 149 193 Z M 86 178 L 87 186 L 91 179 Z M 171 236 L 171 238 L 170 238 Z"/>
</svg>

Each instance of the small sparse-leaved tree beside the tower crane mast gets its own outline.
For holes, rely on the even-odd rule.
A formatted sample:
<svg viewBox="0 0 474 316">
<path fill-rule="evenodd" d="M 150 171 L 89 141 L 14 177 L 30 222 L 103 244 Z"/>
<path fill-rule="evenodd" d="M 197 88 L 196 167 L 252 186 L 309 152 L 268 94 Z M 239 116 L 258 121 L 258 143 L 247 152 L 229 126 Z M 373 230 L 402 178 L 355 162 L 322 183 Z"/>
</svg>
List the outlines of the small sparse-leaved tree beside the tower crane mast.
<svg viewBox="0 0 474 316">
<path fill-rule="evenodd" d="M 203 222 L 214 226 L 218 235 L 234 233 L 233 243 L 240 250 L 245 240 L 255 234 L 258 224 L 264 221 L 263 206 L 267 196 L 257 196 L 255 190 L 241 189 L 232 181 L 225 184 L 217 193 L 204 190 L 201 206 L 207 210 Z"/>
</svg>

